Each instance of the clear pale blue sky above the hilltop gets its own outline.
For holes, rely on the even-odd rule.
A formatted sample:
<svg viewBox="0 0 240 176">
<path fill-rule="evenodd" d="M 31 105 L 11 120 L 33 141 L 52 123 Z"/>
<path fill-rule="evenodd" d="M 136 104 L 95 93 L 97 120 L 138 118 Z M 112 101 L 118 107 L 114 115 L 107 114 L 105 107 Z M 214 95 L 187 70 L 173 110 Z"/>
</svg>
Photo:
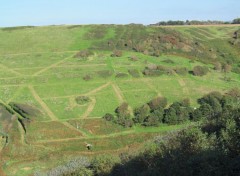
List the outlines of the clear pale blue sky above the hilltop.
<svg viewBox="0 0 240 176">
<path fill-rule="evenodd" d="M 0 27 L 240 17 L 240 0 L 1 0 Z"/>
</svg>

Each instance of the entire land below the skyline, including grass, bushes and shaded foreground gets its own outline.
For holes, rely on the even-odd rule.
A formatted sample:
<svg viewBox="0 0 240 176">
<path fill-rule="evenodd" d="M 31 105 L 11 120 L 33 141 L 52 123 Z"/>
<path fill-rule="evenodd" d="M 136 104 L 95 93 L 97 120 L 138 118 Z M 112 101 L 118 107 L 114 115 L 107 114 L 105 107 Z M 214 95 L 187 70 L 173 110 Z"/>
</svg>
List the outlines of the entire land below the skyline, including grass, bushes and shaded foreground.
<svg viewBox="0 0 240 176">
<path fill-rule="evenodd" d="M 240 173 L 239 25 L 25 26 L 0 39 L 0 175 Z"/>
</svg>

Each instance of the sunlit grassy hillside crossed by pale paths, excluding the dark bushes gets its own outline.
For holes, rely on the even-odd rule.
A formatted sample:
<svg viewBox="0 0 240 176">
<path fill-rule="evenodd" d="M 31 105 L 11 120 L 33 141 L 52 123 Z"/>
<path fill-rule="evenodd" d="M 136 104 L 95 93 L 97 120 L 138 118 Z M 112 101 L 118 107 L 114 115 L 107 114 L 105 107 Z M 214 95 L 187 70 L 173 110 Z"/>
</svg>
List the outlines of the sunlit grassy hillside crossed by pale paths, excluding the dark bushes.
<svg viewBox="0 0 240 176">
<path fill-rule="evenodd" d="M 196 107 L 206 93 L 238 87 L 237 30 L 141 25 L 1 28 L 0 103 L 18 105 L 20 111 L 14 112 L 26 121 L 27 131 L 18 123 L 8 131 L 11 140 L 2 152 L 5 172 L 28 175 L 75 155 L 134 151 L 154 136 L 191 125 L 123 128 L 102 116 L 122 102 L 134 109 L 157 96 L 166 97 L 168 104 L 190 98 Z M 83 50 L 91 54 L 79 54 Z M 115 50 L 123 54 L 111 57 Z M 214 70 L 216 62 L 232 65 L 232 72 Z M 151 65 L 173 72 L 144 75 Z M 195 66 L 208 67 L 208 74 L 194 76 Z M 89 101 L 79 104 L 79 96 Z M 34 115 L 33 109 L 40 113 Z M 93 150 L 87 151 L 85 143 Z"/>
</svg>

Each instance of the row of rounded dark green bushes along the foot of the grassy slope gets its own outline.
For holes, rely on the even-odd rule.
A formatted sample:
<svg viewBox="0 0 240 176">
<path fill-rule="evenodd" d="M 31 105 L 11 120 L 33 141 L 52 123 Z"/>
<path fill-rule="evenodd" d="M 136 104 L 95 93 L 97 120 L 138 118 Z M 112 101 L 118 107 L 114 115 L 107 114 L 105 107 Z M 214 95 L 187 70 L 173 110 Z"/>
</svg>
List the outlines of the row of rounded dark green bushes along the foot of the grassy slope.
<svg viewBox="0 0 240 176">
<path fill-rule="evenodd" d="M 106 114 L 103 118 L 108 121 L 113 121 L 125 127 L 131 127 L 133 124 L 143 126 L 158 126 L 161 123 L 166 124 L 181 124 L 188 120 L 215 120 L 221 118 L 223 112 L 228 106 L 239 104 L 240 90 L 232 89 L 226 95 L 219 92 L 211 92 L 202 98 L 198 99 L 199 108 L 192 108 L 189 99 L 183 99 L 181 102 L 174 102 L 167 108 L 167 99 L 165 97 L 156 97 L 147 104 L 134 109 L 133 116 L 129 111 L 127 103 L 119 106 L 115 113 L 116 115 Z M 211 124 L 211 126 L 213 126 Z M 217 127 L 216 127 L 217 128 Z"/>
</svg>

